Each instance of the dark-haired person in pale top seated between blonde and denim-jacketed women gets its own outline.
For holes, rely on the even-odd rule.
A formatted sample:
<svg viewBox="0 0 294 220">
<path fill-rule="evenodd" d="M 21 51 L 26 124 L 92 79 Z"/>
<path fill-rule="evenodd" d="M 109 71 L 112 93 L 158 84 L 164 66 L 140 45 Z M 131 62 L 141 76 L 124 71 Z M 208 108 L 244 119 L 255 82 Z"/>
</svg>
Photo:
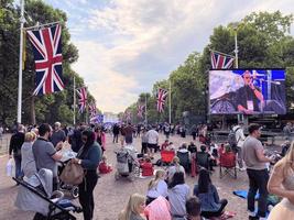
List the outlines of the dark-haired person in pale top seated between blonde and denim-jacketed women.
<svg viewBox="0 0 294 220">
<path fill-rule="evenodd" d="M 184 173 L 176 172 L 167 191 L 173 220 L 184 219 L 186 216 L 186 201 L 189 196 L 189 187 L 185 184 Z"/>
</svg>

